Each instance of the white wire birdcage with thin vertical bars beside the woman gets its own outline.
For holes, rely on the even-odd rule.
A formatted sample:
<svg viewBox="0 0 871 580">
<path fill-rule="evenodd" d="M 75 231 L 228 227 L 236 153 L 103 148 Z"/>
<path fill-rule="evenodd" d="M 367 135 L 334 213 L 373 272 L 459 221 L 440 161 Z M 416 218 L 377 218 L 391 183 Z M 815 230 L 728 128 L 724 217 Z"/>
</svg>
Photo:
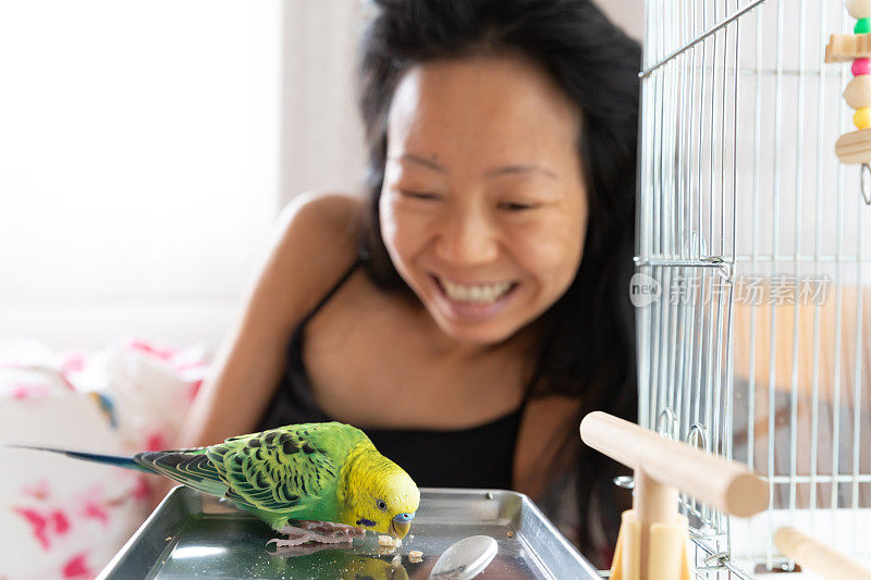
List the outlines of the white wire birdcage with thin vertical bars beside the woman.
<svg viewBox="0 0 871 580">
<path fill-rule="evenodd" d="M 790 525 L 871 556 L 871 207 L 843 0 L 648 0 L 641 77 L 639 422 L 749 465 L 750 520 L 682 497 L 699 578 L 792 569 Z"/>
</svg>

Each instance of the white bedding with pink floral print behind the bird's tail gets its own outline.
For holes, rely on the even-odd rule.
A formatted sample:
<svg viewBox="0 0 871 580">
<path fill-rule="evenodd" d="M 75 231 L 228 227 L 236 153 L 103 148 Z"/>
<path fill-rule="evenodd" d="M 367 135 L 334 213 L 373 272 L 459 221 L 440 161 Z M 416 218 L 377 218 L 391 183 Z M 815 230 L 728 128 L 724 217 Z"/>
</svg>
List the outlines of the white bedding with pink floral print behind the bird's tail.
<svg viewBox="0 0 871 580">
<path fill-rule="evenodd" d="M 132 454 L 173 441 L 203 347 L 0 344 L 0 442 Z M 94 578 L 148 516 L 150 477 L 0 446 L 0 580 Z"/>
</svg>

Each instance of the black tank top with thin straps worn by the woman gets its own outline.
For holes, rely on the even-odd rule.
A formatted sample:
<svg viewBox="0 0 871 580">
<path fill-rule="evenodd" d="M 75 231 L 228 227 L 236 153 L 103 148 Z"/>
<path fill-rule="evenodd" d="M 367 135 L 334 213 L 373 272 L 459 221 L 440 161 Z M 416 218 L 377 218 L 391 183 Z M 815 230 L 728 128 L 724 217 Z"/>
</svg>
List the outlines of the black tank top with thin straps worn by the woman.
<svg viewBox="0 0 871 580">
<path fill-rule="evenodd" d="M 263 431 L 285 424 L 333 421 L 315 403 L 303 359 L 309 320 L 360 266 L 358 259 L 294 329 L 287 363 L 259 422 Z M 529 392 L 529 388 L 526 390 Z M 511 489 L 514 451 L 526 398 L 515 411 L 489 423 L 458 430 L 363 429 L 378 451 L 403 467 L 422 488 Z"/>
</svg>

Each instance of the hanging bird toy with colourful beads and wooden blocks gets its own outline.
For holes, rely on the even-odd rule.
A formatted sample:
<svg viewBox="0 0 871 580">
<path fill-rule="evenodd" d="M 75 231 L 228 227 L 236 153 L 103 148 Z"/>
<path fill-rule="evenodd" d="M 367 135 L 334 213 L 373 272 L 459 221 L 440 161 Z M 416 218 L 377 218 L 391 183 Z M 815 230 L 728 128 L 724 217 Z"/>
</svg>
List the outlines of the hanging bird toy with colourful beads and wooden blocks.
<svg viewBox="0 0 871 580">
<path fill-rule="evenodd" d="M 856 18 L 851 35 L 834 34 L 825 47 L 825 62 L 852 61 L 852 81 L 844 89 L 844 100 L 856 110 L 857 131 L 842 135 L 835 153 L 842 163 L 862 164 L 862 197 L 871 205 L 871 0 L 847 0 L 847 12 Z"/>
</svg>

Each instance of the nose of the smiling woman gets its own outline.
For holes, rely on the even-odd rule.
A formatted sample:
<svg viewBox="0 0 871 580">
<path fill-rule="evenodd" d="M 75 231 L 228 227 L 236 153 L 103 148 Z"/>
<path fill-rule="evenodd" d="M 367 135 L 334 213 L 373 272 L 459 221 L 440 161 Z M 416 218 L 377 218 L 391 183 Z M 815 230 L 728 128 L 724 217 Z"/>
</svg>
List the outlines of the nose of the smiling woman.
<svg viewBox="0 0 871 580">
<path fill-rule="evenodd" d="M 453 212 L 439 232 L 437 256 L 449 263 L 473 266 L 499 256 L 495 227 L 477 211 Z"/>
</svg>

